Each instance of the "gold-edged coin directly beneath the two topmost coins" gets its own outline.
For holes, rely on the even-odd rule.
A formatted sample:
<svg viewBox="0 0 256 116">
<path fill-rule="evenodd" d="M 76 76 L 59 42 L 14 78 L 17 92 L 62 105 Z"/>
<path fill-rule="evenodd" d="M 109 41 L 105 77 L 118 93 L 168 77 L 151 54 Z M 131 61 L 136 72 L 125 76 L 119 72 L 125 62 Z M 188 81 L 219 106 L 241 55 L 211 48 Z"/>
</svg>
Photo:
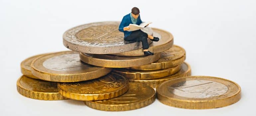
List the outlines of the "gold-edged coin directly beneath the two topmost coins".
<svg viewBox="0 0 256 116">
<path fill-rule="evenodd" d="M 80 59 L 85 63 L 100 67 L 127 68 L 153 63 L 160 58 L 160 55 L 158 53 L 150 56 L 129 57 L 80 53 Z"/>
</svg>

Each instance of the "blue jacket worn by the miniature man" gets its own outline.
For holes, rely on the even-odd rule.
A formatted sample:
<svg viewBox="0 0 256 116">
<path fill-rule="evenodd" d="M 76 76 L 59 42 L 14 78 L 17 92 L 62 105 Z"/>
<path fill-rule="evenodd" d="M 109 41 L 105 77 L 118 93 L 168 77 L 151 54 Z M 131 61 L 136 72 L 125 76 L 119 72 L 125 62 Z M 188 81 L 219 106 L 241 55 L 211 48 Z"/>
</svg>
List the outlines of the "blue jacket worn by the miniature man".
<svg viewBox="0 0 256 116">
<path fill-rule="evenodd" d="M 140 19 L 140 15 L 137 19 L 137 25 L 140 25 L 142 23 L 141 19 Z M 119 25 L 119 31 L 121 32 L 124 32 L 124 37 L 127 37 L 128 35 L 130 35 L 132 33 L 132 31 L 124 31 L 124 27 L 127 27 L 129 26 L 130 24 L 133 24 L 132 23 L 132 20 L 131 20 L 131 16 L 130 16 L 130 13 L 128 15 L 125 15 L 122 19 L 122 22 L 120 23 Z"/>
</svg>

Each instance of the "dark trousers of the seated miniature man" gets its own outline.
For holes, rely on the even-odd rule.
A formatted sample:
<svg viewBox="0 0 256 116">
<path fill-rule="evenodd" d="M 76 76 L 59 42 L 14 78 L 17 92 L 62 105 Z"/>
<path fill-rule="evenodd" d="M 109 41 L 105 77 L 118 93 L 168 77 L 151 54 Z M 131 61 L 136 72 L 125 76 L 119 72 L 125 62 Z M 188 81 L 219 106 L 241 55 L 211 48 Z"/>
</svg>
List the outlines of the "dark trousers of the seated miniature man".
<svg viewBox="0 0 256 116">
<path fill-rule="evenodd" d="M 142 30 L 135 30 L 132 31 L 130 35 L 124 38 L 125 41 L 141 41 L 142 42 L 142 48 L 148 49 L 148 34 L 143 32 Z"/>
</svg>

